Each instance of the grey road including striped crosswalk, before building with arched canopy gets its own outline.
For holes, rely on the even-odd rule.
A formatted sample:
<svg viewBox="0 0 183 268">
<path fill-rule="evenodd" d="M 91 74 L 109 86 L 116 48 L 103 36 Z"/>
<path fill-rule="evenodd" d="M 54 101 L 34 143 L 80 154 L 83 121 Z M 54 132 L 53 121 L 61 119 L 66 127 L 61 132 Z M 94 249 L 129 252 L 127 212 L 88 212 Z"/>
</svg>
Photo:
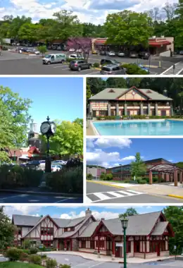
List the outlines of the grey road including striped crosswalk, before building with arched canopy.
<svg viewBox="0 0 183 268">
<path fill-rule="evenodd" d="M 115 188 L 99 183 L 87 182 L 87 203 L 180 203 L 182 199 L 175 199 L 163 195 L 149 195 L 136 190 Z"/>
</svg>

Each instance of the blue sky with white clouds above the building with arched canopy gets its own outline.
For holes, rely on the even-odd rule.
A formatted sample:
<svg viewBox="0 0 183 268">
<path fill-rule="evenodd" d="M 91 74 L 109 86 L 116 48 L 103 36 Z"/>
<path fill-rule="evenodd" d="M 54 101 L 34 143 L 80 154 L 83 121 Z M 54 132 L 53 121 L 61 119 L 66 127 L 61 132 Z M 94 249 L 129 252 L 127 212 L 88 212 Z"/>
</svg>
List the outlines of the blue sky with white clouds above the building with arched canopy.
<svg viewBox="0 0 183 268">
<path fill-rule="evenodd" d="M 146 160 L 164 158 L 170 162 L 183 162 L 183 139 L 170 138 L 98 138 L 87 139 L 87 164 L 111 167 L 129 164 L 137 152 Z"/>
</svg>

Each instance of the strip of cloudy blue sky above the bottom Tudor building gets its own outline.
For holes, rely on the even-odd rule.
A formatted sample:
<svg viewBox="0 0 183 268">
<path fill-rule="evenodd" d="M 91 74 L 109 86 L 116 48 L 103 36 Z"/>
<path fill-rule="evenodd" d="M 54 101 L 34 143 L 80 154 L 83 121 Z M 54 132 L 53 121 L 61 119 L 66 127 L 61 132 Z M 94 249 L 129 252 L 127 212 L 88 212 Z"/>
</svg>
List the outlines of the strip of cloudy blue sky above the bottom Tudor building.
<svg viewBox="0 0 183 268">
<path fill-rule="evenodd" d="M 139 214 L 158 212 L 163 210 L 164 206 L 133 206 Z M 84 217 L 87 206 L 73 205 L 72 207 L 61 207 L 61 206 L 30 206 L 30 205 L 14 205 L 5 206 L 5 212 L 9 217 L 12 214 L 23 214 L 23 215 L 46 215 L 49 214 L 51 217 L 62 218 L 62 219 L 73 219 L 76 217 Z M 118 214 L 123 213 L 127 210 L 127 206 L 90 206 L 92 214 L 96 219 L 114 219 L 118 218 Z"/>
</svg>

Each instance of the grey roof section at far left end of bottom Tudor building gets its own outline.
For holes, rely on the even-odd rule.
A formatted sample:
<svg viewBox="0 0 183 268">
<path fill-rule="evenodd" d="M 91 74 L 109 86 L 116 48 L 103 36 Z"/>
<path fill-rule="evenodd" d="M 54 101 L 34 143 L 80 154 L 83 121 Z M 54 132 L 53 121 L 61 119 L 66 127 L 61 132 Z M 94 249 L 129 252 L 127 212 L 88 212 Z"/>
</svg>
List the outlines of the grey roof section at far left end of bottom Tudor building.
<svg viewBox="0 0 183 268">
<path fill-rule="evenodd" d="M 34 226 L 41 217 L 13 214 L 13 223 L 21 226 Z"/>
</svg>

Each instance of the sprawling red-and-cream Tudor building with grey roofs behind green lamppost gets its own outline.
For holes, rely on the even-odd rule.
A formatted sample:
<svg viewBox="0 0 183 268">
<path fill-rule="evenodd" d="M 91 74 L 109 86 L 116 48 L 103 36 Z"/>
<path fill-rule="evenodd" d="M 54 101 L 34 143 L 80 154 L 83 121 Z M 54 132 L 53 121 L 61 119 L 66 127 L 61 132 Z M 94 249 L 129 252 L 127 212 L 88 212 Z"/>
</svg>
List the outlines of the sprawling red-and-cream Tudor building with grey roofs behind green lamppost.
<svg viewBox="0 0 183 268">
<path fill-rule="evenodd" d="M 168 240 L 174 236 L 162 212 L 128 217 L 127 257 L 153 258 L 169 255 Z M 15 244 L 25 239 L 34 245 L 112 257 L 123 257 L 123 231 L 120 219 L 96 221 L 87 209 L 85 217 L 54 219 L 49 215 L 33 217 L 13 215 L 17 227 Z"/>
</svg>

